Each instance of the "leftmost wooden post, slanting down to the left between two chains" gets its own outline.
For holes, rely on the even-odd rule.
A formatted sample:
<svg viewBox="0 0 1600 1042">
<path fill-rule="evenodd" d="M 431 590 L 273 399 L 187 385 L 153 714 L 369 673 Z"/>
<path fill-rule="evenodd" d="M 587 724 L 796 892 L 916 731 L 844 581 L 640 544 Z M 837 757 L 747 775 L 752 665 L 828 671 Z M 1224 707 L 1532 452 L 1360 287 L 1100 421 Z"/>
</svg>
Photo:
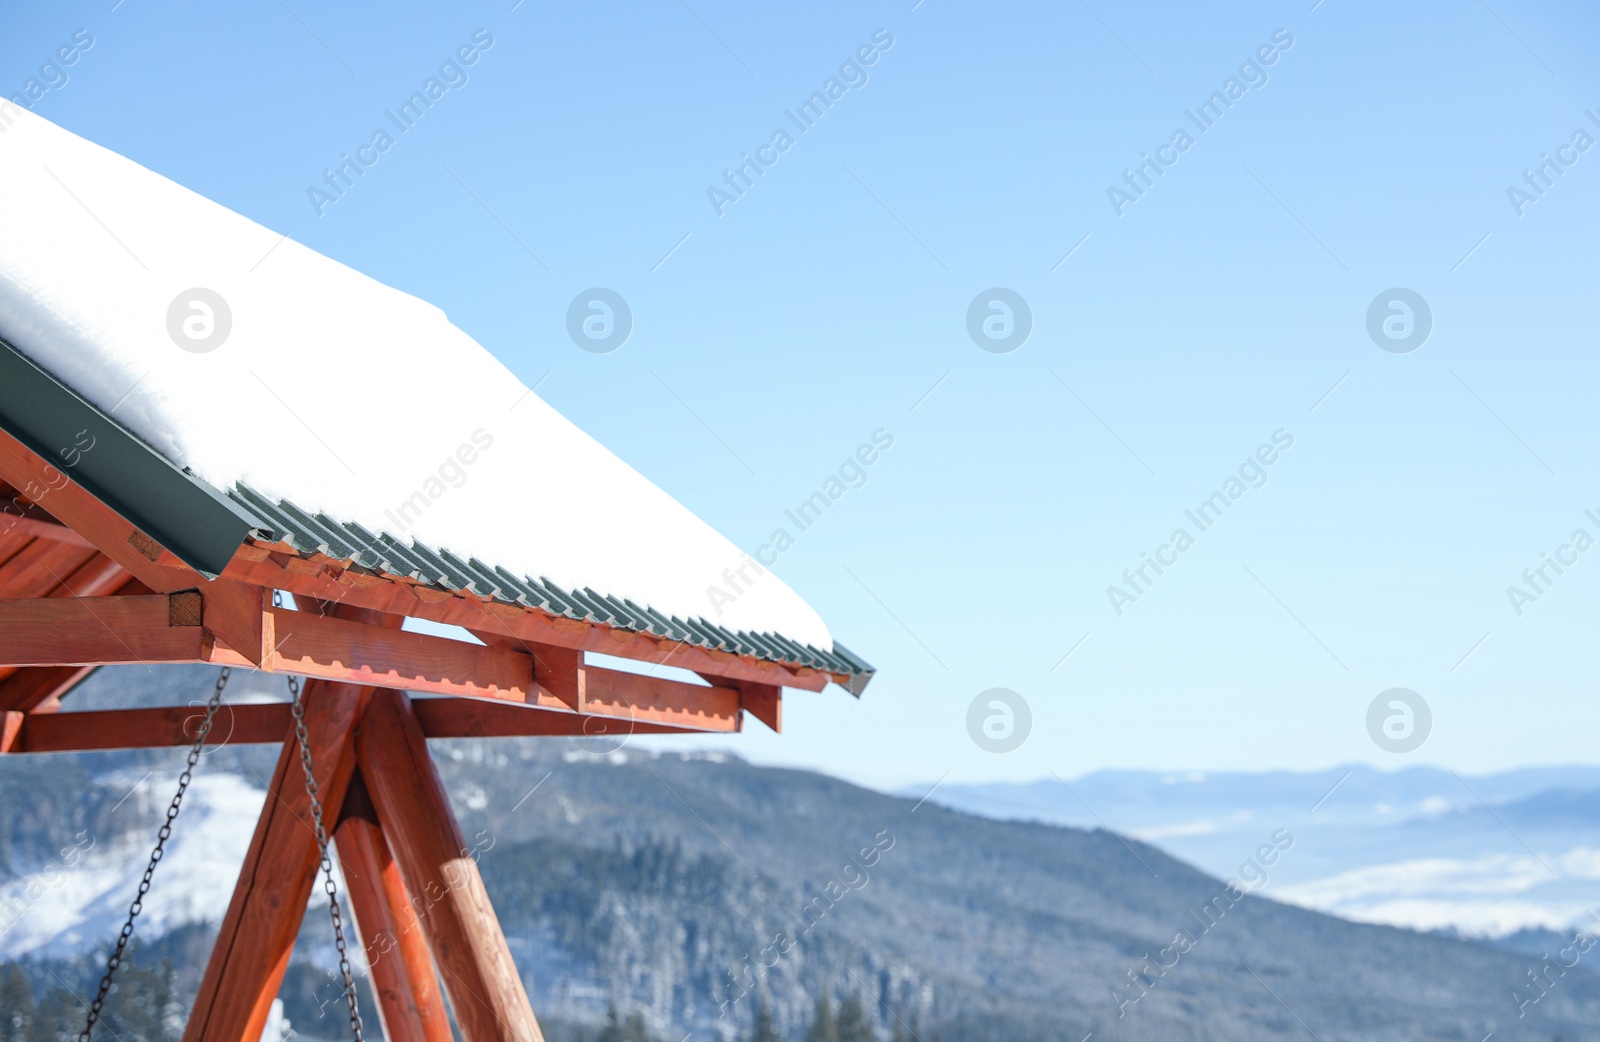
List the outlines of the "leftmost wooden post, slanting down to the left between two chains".
<svg viewBox="0 0 1600 1042">
<path fill-rule="evenodd" d="M 306 685 L 306 730 L 328 824 L 355 770 L 355 727 L 368 695 L 370 688 L 349 683 Z M 182 1042 L 259 1042 L 317 877 L 317 836 L 309 807 L 299 743 L 291 730 Z"/>
</svg>

